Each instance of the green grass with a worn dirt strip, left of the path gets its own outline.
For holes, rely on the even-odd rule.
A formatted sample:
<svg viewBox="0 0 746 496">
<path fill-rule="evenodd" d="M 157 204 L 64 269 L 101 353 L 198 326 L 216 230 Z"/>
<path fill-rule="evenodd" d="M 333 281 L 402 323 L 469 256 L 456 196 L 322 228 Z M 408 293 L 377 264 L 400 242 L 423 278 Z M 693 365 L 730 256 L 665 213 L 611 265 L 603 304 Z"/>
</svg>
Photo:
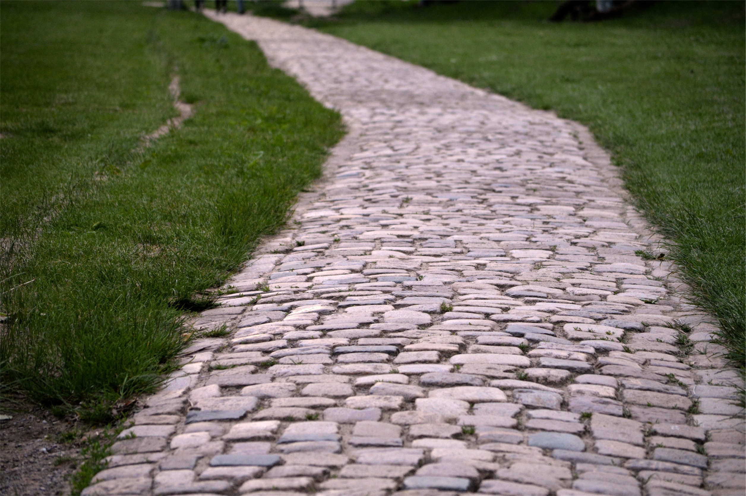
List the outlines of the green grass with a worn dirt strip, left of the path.
<svg viewBox="0 0 746 496">
<path fill-rule="evenodd" d="M 281 227 L 339 116 L 254 43 L 140 2 L 2 2 L 4 388 L 106 422 L 189 339 L 184 309 Z M 194 104 L 183 128 L 137 151 Z"/>
</svg>

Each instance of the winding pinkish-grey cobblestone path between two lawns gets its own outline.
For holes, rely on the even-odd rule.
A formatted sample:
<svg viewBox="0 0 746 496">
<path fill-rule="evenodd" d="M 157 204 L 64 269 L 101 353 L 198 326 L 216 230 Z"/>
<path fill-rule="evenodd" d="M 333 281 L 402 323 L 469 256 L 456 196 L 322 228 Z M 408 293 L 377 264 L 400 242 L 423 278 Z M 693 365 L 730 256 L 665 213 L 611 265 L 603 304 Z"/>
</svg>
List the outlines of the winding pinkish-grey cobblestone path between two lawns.
<svg viewBox="0 0 746 496">
<path fill-rule="evenodd" d="M 84 495 L 744 493 L 737 375 L 583 128 L 218 19 L 350 133 Z"/>
</svg>

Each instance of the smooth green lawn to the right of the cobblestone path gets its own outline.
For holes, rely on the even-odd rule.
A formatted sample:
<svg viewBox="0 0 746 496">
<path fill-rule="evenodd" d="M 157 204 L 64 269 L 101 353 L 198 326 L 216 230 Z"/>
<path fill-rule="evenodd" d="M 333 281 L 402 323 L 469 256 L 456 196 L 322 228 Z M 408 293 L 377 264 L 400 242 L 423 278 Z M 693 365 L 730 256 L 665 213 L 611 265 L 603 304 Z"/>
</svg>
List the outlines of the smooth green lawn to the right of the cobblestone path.
<svg viewBox="0 0 746 496">
<path fill-rule="evenodd" d="M 548 22 L 556 6 L 358 1 L 306 24 L 587 125 L 743 366 L 744 3 L 662 1 L 621 19 Z"/>
</svg>

